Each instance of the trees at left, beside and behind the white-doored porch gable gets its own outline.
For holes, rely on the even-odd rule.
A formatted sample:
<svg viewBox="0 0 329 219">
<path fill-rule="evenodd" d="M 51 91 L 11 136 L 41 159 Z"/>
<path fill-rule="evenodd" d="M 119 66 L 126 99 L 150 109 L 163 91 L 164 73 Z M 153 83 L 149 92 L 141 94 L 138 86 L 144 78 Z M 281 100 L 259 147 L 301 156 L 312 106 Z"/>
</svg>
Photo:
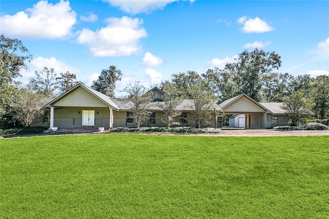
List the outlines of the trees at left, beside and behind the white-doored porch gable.
<svg viewBox="0 0 329 219">
<path fill-rule="evenodd" d="M 36 116 L 44 113 L 42 106 L 47 98 L 58 97 L 78 83 L 75 74 L 43 67 L 34 71 L 34 77 L 24 85 L 17 81 L 21 70 L 28 70 L 27 62 L 32 55 L 22 41 L 0 36 L 0 128 L 23 125 L 28 127 Z M 103 69 L 92 88 L 109 97 L 114 97 L 115 83 L 121 80 L 121 71 L 116 66 Z"/>
</svg>

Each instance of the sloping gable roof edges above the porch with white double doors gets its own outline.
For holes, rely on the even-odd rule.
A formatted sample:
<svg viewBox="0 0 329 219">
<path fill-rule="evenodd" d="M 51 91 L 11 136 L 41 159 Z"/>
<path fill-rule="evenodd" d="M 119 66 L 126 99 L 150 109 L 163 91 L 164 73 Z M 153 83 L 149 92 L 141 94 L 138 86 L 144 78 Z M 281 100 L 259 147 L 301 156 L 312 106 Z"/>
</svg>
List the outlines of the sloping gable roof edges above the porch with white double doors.
<svg viewBox="0 0 329 219">
<path fill-rule="evenodd" d="M 74 92 L 76 89 L 78 89 L 79 87 L 83 87 L 84 89 L 86 89 L 88 92 L 90 92 L 90 94 L 94 95 L 96 98 L 98 98 L 99 100 L 101 100 L 102 102 L 104 102 L 105 104 L 107 104 L 109 107 L 118 110 L 119 107 L 112 101 L 111 98 L 109 98 L 108 96 L 98 92 L 97 90 L 88 87 L 84 84 L 77 84 L 76 86 L 72 87 L 71 89 L 69 89 L 67 92 L 65 92 L 64 94 L 62 94 L 61 96 L 53 99 L 52 101 L 48 102 L 47 104 L 45 104 L 43 106 L 43 108 L 47 108 L 52 106 L 54 103 L 56 103 L 57 101 L 63 99 L 64 97 L 66 97 L 67 95 L 69 95 L 70 93 Z"/>
</svg>

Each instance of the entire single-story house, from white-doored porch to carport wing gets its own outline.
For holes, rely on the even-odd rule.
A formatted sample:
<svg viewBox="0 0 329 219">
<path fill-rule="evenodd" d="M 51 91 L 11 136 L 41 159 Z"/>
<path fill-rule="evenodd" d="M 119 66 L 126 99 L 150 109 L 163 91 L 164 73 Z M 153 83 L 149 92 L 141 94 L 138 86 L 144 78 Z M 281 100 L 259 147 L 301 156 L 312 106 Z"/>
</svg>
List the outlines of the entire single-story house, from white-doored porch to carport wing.
<svg viewBox="0 0 329 219">
<path fill-rule="evenodd" d="M 150 116 L 142 121 L 141 126 L 166 126 L 161 121 L 163 113 L 159 104 L 163 103 L 163 92 L 158 87 L 150 90 L 154 100 L 150 102 Z M 287 125 L 289 118 L 283 103 L 257 102 L 245 94 L 214 103 L 214 117 L 208 121 L 214 127 L 215 117 L 220 114 L 233 115 L 229 119 L 230 127 L 249 129 L 266 129 L 268 127 Z M 49 99 L 44 105 L 46 113 L 43 118 L 36 118 L 31 126 L 58 127 L 59 129 L 80 129 L 82 127 L 98 129 L 104 127 L 135 127 L 131 104 L 126 99 L 109 98 L 83 84 L 77 84 L 63 95 Z M 176 108 L 181 112 L 177 118 L 179 126 L 196 126 L 193 117 L 193 100 L 182 100 Z"/>
</svg>

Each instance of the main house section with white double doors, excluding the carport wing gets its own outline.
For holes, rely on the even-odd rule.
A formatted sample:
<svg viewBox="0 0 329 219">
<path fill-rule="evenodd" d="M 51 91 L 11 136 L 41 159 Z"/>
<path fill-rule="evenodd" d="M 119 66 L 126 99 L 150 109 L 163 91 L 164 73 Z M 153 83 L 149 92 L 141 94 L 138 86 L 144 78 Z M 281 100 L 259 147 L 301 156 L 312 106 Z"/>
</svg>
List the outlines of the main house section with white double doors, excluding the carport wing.
<svg viewBox="0 0 329 219">
<path fill-rule="evenodd" d="M 141 126 L 166 126 L 161 121 L 163 115 L 158 106 L 163 102 L 163 92 L 157 87 L 153 92 L 154 101 L 150 102 L 148 120 L 142 121 Z M 220 108 L 214 103 L 214 110 L 219 113 Z M 109 98 L 83 84 L 77 84 L 61 96 L 50 100 L 46 105 L 45 116 L 35 119 L 31 126 L 58 127 L 58 129 L 81 129 L 104 127 L 135 127 L 131 104 L 126 99 Z M 195 126 L 193 118 L 193 100 L 183 100 L 176 108 L 181 112 L 177 118 L 179 126 Z M 214 127 L 215 121 L 208 121 L 208 126 Z"/>
</svg>

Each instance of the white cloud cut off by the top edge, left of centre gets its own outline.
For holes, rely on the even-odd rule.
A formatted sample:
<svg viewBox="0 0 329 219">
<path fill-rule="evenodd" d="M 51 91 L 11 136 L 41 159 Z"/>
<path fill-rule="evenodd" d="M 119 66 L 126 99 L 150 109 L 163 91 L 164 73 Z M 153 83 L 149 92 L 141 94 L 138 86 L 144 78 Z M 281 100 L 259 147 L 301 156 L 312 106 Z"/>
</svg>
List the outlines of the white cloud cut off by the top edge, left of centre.
<svg viewBox="0 0 329 219">
<path fill-rule="evenodd" d="M 122 11 L 130 14 L 138 13 L 151 13 L 154 10 L 163 9 L 168 4 L 176 2 L 178 0 L 130 0 L 130 1 L 118 1 L 118 0 L 103 0 L 108 2 L 114 7 L 120 8 Z M 186 1 L 186 0 L 183 0 Z M 190 0 L 191 3 L 194 0 Z"/>
</svg>

